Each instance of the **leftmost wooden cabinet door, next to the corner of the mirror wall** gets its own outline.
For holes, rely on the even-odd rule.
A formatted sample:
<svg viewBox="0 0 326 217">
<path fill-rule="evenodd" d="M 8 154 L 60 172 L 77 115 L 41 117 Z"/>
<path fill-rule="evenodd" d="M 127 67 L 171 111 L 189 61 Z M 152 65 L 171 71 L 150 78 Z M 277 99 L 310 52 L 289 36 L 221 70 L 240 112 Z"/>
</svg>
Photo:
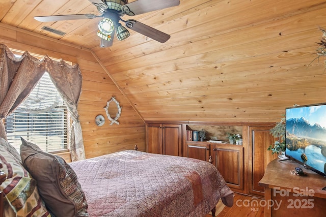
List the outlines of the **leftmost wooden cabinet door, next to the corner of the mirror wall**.
<svg viewBox="0 0 326 217">
<path fill-rule="evenodd" d="M 159 123 L 149 123 L 146 128 L 147 152 L 162 154 L 162 126 Z"/>
</svg>

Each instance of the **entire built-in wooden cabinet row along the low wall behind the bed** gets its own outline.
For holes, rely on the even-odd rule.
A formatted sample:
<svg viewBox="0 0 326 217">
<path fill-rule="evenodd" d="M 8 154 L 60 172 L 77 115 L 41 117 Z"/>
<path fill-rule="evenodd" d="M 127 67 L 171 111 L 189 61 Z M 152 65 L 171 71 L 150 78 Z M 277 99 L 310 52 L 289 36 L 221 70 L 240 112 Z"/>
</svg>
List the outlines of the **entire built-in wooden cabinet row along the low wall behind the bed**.
<svg viewBox="0 0 326 217">
<path fill-rule="evenodd" d="M 213 123 L 187 122 L 180 124 L 147 123 L 147 151 L 209 161 L 221 172 L 229 187 L 238 193 L 263 197 L 259 180 L 267 164 L 277 158 L 267 148 L 275 138 L 269 133 L 274 123 Z M 216 136 L 227 140 L 228 132 L 242 135 L 242 145 L 217 144 L 207 141 L 186 141 L 187 130 L 206 132 L 207 139 Z"/>
</svg>

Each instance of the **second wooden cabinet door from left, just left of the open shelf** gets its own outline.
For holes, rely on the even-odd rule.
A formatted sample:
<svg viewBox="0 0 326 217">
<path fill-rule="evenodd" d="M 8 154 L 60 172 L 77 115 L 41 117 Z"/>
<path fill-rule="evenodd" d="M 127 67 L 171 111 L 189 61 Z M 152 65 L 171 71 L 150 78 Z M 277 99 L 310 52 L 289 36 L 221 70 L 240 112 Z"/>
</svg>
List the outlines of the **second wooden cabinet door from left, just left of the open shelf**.
<svg viewBox="0 0 326 217">
<path fill-rule="evenodd" d="M 181 125 L 162 125 L 163 153 L 173 156 L 182 156 L 182 129 Z"/>
</svg>

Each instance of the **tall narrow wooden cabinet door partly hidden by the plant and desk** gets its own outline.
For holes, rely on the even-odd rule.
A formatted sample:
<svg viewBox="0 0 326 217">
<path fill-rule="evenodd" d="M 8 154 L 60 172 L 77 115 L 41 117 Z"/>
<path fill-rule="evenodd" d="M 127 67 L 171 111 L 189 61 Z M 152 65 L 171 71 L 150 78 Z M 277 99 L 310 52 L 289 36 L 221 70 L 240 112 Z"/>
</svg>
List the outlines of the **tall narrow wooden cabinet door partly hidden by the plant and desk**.
<svg viewBox="0 0 326 217">
<path fill-rule="evenodd" d="M 264 188 L 259 186 L 260 179 L 264 176 L 267 164 L 277 158 L 267 148 L 275 142 L 275 138 L 269 133 L 272 127 L 250 127 L 249 128 L 249 193 L 252 195 L 264 196 Z"/>
</svg>

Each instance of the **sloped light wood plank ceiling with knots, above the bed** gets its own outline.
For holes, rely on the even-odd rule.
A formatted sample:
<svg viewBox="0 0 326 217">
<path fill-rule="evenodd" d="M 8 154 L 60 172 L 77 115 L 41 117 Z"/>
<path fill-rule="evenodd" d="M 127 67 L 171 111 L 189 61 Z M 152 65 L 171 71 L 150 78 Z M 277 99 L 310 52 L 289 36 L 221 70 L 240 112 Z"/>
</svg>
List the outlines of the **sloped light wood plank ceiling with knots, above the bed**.
<svg viewBox="0 0 326 217">
<path fill-rule="evenodd" d="M 33 19 L 98 15 L 87 0 L 0 4 L 1 23 L 91 49 L 146 121 L 278 121 L 285 107 L 326 101 L 324 65 L 313 61 L 319 27 L 326 28 L 321 0 L 181 0 L 132 17 L 170 34 L 168 42 L 130 30 L 108 48 L 99 47 L 98 18 Z M 67 34 L 49 33 L 44 25 Z"/>
</svg>

